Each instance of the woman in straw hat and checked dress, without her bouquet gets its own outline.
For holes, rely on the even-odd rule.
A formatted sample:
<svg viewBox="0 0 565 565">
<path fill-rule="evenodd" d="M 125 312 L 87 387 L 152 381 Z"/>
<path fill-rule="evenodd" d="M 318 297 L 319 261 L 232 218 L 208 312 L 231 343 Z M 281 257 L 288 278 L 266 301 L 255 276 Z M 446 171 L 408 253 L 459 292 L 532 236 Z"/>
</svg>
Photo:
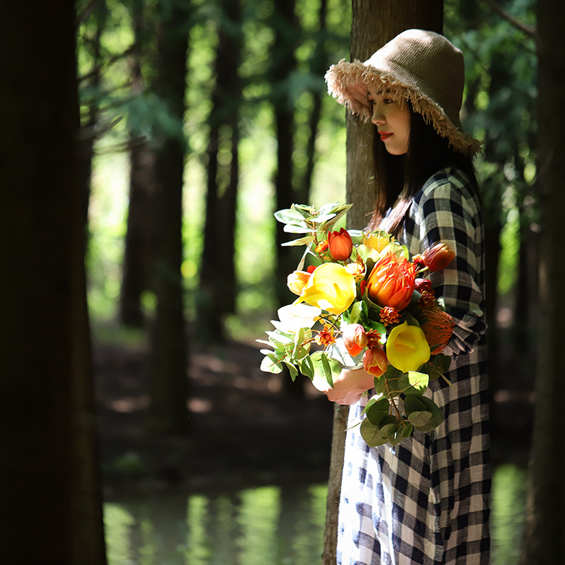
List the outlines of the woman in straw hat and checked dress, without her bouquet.
<svg viewBox="0 0 565 565">
<path fill-rule="evenodd" d="M 442 35 L 407 30 L 361 63 L 340 61 L 329 92 L 376 126 L 377 198 L 369 227 L 396 235 L 410 254 L 443 242 L 450 265 L 431 273 L 456 328 L 442 379 L 430 381 L 444 423 L 398 446 L 369 448 L 350 410 L 338 564 L 489 563 L 489 435 L 483 225 L 463 133 L 463 55 Z M 355 381 L 359 371 L 347 371 Z"/>
</svg>

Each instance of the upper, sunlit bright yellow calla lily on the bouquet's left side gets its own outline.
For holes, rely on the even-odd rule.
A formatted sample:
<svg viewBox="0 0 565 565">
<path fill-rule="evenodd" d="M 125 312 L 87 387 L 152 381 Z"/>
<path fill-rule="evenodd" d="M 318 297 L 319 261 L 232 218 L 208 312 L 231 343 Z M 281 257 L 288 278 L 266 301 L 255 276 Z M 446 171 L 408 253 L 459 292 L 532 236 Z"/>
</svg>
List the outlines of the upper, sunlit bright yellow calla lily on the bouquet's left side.
<svg viewBox="0 0 565 565">
<path fill-rule="evenodd" d="M 351 306 L 355 295 L 353 275 L 337 263 L 323 263 L 314 269 L 298 302 L 307 302 L 338 316 Z"/>
</svg>

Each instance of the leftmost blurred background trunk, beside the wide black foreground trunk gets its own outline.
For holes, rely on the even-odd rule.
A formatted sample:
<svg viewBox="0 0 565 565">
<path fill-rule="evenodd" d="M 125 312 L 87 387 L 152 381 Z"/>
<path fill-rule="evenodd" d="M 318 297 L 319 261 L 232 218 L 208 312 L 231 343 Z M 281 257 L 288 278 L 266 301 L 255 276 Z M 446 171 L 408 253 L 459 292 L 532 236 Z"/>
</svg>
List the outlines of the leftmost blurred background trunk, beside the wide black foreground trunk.
<svg viewBox="0 0 565 565">
<path fill-rule="evenodd" d="M 131 91 L 143 94 L 145 81 L 141 71 L 141 50 L 148 35 L 142 6 L 133 3 L 133 32 L 136 49 L 131 53 Z M 155 192 L 155 152 L 143 137 L 143 131 L 130 126 L 129 207 L 124 252 L 123 276 L 119 304 L 120 321 L 127 326 L 141 327 L 144 323 L 141 296 L 150 290 L 155 254 L 155 225 L 153 194 Z"/>
</svg>

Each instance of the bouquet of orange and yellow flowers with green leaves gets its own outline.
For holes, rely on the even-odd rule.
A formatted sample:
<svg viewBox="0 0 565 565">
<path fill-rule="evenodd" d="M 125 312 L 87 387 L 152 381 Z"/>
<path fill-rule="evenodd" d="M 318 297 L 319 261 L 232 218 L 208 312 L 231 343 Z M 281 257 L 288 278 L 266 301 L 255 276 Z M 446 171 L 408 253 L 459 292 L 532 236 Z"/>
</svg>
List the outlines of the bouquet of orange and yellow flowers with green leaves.
<svg viewBox="0 0 565 565">
<path fill-rule="evenodd" d="M 430 379 L 447 381 L 451 359 L 441 352 L 454 323 L 423 275 L 446 267 L 455 254 L 436 244 L 410 257 L 381 230 L 333 230 L 350 208 L 293 204 L 275 213 L 286 232 L 299 234 L 283 245 L 306 250 L 287 279 L 297 299 L 278 310 L 268 340 L 258 340 L 271 347 L 261 350 L 261 370 L 279 373 L 286 366 L 292 380 L 300 372 L 340 404 L 374 388 L 360 432 L 371 447 L 396 445 L 414 428 L 428 432 L 444 420 L 424 393 Z M 307 257 L 312 264 L 304 269 Z"/>
</svg>

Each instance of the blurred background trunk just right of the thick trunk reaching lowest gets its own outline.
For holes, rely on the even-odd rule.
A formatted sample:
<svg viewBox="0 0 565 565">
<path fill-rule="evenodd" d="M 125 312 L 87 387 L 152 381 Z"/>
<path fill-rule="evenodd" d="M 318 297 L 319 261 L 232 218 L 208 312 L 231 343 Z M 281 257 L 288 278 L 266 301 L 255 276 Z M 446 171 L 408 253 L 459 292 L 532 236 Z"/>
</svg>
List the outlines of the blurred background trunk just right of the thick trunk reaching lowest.
<svg viewBox="0 0 565 565">
<path fill-rule="evenodd" d="M 198 296 L 199 338 L 222 340 L 223 321 L 235 309 L 235 218 L 239 185 L 239 105 L 242 85 L 239 59 L 242 49 L 242 10 L 239 0 L 222 2 L 215 60 L 212 111 L 208 119 L 208 185 L 204 249 Z M 228 149 L 229 148 L 229 149 Z M 220 151 L 231 153 L 230 163 L 218 160 Z"/>
</svg>

